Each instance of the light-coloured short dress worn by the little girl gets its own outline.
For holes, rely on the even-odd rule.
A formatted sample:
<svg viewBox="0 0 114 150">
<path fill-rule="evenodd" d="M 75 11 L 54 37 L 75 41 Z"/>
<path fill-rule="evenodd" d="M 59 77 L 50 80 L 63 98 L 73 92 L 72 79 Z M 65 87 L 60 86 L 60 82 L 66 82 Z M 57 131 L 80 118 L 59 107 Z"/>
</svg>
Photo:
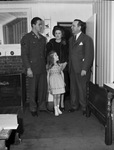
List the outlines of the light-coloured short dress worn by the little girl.
<svg viewBox="0 0 114 150">
<path fill-rule="evenodd" d="M 54 65 L 49 69 L 49 90 L 51 94 L 62 94 L 65 93 L 64 75 L 62 71 L 63 66 Z"/>
</svg>

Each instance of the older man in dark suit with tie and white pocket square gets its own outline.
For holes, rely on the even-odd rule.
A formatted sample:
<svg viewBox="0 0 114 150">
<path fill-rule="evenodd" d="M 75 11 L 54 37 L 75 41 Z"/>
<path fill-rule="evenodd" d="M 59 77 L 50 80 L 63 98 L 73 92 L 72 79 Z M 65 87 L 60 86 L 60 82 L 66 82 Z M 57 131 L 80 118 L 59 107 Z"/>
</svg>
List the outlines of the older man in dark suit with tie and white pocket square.
<svg viewBox="0 0 114 150">
<path fill-rule="evenodd" d="M 73 36 L 69 40 L 70 100 L 74 112 L 79 109 L 86 113 L 86 85 L 90 80 L 94 58 L 92 39 L 83 33 L 86 23 L 75 19 L 72 23 Z"/>
</svg>

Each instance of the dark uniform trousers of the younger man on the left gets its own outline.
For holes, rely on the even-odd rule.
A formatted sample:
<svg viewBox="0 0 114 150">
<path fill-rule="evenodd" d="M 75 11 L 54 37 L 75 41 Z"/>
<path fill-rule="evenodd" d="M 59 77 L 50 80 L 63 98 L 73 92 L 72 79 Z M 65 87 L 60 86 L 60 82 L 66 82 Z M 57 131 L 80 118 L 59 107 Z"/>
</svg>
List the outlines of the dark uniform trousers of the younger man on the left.
<svg viewBox="0 0 114 150">
<path fill-rule="evenodd" d="M 47 74 L 37 74 L 29 78 L 30 111 L 46 110 Z"/>
</svg>

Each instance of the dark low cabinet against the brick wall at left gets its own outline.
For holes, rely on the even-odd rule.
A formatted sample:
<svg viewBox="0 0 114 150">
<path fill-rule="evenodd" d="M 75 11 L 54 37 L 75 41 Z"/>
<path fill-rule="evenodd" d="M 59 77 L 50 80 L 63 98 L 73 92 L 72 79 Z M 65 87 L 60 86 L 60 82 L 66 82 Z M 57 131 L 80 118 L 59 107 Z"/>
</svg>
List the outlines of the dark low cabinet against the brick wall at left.
<svg viewBox="0 0 114 150">
<path fill-rule="evenodd" d="M 0 109 L 21 108 L 26 101 L 25 74 L 0 75 Z"/>
</svg>

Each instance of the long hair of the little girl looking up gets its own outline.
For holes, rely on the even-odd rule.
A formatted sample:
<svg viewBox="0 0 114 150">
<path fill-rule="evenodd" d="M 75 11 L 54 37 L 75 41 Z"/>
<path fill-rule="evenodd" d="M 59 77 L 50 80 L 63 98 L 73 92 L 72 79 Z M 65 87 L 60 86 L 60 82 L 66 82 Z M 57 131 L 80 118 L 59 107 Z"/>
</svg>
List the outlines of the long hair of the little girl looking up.
<svg viewBox="0 0 114 150">
<path fill-rule="evenodd" d="M 54 54 L 56 52 L 55 51 L 51 51 L 49 52 L 48 56 L 47 56 L 47 67 L 48 69 L 50 69 L 53 65 L 54 65 Z"/>
</svg>

